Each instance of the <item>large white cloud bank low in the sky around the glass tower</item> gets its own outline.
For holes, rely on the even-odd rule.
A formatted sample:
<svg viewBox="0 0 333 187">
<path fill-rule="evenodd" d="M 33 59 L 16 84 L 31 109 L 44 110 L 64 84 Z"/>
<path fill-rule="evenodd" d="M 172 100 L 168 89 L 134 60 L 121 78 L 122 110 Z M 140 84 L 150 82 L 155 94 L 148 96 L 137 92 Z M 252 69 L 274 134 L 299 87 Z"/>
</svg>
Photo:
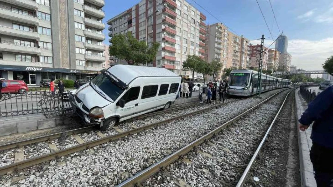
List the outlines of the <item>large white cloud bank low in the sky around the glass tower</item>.
<svg viewBox="0 0 333 187">
<path fill-rule="evenodd" d="M 268 47 L 273 41 L 265 40 L 264 46 Z M 251 41 L 260 44 L 260 40 Z M 292 55 L 291 64 L 305 70 L 322 70 L 322 64 L 333 54 L 333 38 L 318 41 L 289 40 L 288 53 Z M 273 44 L 270 48 L 274 48 Z"/>
</svg>

